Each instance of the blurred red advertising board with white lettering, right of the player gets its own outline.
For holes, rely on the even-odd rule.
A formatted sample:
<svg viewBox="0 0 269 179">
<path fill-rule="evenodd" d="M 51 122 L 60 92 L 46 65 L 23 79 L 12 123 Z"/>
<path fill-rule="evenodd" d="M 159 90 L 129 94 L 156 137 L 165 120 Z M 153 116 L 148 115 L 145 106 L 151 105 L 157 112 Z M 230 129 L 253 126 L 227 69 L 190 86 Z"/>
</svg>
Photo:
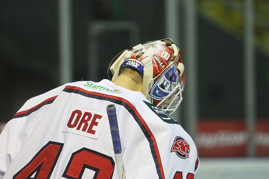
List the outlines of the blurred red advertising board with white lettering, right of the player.
<svg viewBox="0 0 269 179">
<path fill-rule="evenodd" d="M 257 121 L 254 139 L 257 156 L 269 156 L 269 121 Z M 247 156 L 248 133 L 242 120 L 201 120 L 195 143 L 200 157 Z"/>
</svg>

